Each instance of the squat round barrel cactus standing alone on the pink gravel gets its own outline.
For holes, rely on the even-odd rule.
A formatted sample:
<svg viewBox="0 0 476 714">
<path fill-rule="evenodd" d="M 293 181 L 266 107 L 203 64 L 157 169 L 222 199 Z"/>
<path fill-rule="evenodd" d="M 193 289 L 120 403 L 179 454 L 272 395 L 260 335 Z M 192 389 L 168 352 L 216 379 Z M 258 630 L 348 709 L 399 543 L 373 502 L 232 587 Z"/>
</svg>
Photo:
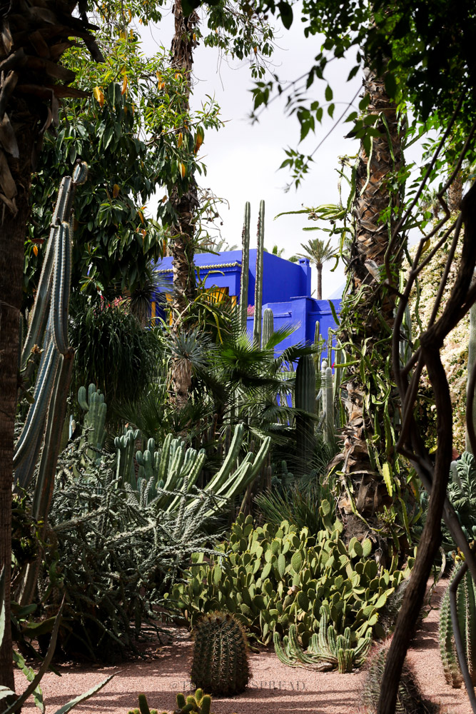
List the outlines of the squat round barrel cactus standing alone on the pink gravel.
<svg viewBox="0 0 476 714">
<path fill-rule="evenodd" d="M 191 680 L 212 694 L 233 695 L 248 684 L 248 643 L 230 613 L 202 618 L 194 632 Z"/>
</svg>

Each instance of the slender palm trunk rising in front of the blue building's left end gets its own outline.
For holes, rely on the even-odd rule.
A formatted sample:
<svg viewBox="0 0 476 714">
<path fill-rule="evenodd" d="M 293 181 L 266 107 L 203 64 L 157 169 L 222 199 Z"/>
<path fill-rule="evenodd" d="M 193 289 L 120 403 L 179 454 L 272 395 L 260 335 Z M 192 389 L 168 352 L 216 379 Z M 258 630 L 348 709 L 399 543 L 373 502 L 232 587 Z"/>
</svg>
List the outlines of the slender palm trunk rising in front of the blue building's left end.
<svg viewBox="0 0 476 714">
<path fill-rule="evenodd" d="M 198 15 L 193 11 L 188 17 L 183 16 L 181 0 L 176 0 L 173 6 L 175 18 L 175 34 L 173 35 L 171 52 L 172 66 L 186 76 L 187 91 L 181 110 L 183 113 L 190 108 L 191 71 L 193 66 L 194 29 L 198 23 Z M 186 127 L 183 128 L 186 132 Z M 176 211 L 176 223 L 172 226 L 172 276 L 173 296 L 171 309 L 173 314 L 173 330 L 186 328 L 188 307 L 196 297 L 196 274 L 193 264 L 195 213 L 198 208 L 197 185 L 191 176 L 188 190 L 180 193 L 173 188 L 171 203 Z M 188 400 L 191 387 L 191 370 L 183 367 L 183 361 L 175 361 L 172 365 L 171 381 L 173 401 L 178 408 Z"/>
</svg>

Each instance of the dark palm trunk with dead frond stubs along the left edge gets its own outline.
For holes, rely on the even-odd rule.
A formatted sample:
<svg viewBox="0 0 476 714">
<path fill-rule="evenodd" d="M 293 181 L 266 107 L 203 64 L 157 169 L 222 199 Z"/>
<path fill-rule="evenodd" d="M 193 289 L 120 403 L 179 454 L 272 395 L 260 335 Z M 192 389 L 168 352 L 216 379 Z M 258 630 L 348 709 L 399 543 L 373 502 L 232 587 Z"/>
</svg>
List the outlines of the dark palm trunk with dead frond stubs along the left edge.
<svg viewBox="0 0 476 714">
<path fill-rule="evenodd" d="M 2 5 L 0 64 L 0 570 L 5 568 L 5 631 L 0 647 L 0 682 L 14 689 L 10 631 L 11 486 L 18 391 L 19 315 L 23 298 L 24 240 L 30 213 L 31 172 L 43 133 L 57 124 L 59 101 L 88 96 L 68 86 L 73 71 L 59 64 L 66 49 L 83 38 L 103 61 L 79 3 L 12 0 Z M 3 604 L 3 603 L 2 603 Z"/>
</svg>

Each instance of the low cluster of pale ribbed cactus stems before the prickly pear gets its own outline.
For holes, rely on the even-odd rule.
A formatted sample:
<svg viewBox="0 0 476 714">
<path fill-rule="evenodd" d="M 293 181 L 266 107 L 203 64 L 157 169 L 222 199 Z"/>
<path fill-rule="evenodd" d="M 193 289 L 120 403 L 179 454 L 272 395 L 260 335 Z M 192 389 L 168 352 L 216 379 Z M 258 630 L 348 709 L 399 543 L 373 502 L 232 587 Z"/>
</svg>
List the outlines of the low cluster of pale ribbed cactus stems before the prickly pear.
<svg viewBox="0 0 476 714">
<path fill-rule="evenodd" d="M 306 652 L 300 647 L 295 625 L 290 625 L 289 634 L 284 635 L 282 644 L 279 633 L 274 633 L 278 659 L 285 665 L 312 666 L 321 671 L 337 668 L 341 674 L 362 666 L 372 645 L 372 631 L 367 630 L 365 637 L 357 639 L 346 627 L 343 635 L 338 635 L 335 626 L 329 624 L 327 605 L 323 605 L 321 613 L 319 632 L 311 635 Z"/>
</svg>

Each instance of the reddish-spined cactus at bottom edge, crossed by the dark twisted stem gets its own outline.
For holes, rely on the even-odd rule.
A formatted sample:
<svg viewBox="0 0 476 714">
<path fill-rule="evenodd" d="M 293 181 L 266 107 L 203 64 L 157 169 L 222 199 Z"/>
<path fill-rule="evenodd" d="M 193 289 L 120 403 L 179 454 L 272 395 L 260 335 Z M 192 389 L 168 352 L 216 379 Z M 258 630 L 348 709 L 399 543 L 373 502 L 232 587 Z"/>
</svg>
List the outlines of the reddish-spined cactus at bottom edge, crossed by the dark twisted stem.
<svg viewBox="0 0 476 714">
<path fill-rule="evenodd" d="M 365 707 L 365 714 L 376 714 L 380 688 L 382 686 L 383 672 L 385 670 L 385 660 L 388 648 L 381 648 L 373 656 L 368 675 L 362 690 L 362 703 Z M 422 695 L 417 679 L 410 667 L 405 663 L 398 685 L 397 714 L 436 714 L 439 707 Z"/>
</svg>

